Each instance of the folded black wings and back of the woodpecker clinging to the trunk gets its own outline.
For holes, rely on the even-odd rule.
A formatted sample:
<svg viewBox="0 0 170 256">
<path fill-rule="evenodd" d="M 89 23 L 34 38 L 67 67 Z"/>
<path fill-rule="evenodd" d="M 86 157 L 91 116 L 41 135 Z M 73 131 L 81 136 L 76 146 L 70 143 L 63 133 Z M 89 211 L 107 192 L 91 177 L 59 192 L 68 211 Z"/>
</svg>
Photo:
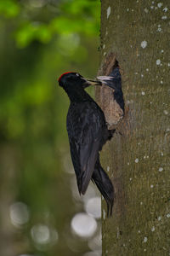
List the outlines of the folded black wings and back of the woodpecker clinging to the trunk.
<svg viewBox="0 0 170 256">
<path fill-rule="evenodd" d="M 71 103 L 67 131 L 80 194 L 85 194 L 101 148 L 105 117 L 95 102 Z"/>
</svg>

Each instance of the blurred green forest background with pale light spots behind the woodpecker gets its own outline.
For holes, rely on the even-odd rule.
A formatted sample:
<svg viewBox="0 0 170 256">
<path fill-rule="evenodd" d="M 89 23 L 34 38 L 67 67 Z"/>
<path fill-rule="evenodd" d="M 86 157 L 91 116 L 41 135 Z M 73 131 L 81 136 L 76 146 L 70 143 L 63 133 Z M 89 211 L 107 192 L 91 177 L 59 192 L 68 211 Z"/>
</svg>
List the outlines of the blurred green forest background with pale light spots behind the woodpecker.
<svg viewBox="0 0 170 256">
<path fill-rule="evenodd" d="M 2 256 L 101 255 L 100 195 L 78 195 L 57 82 L 94 78 L 99 18 L 98 0 L 0 0 Z"/>
</svg>

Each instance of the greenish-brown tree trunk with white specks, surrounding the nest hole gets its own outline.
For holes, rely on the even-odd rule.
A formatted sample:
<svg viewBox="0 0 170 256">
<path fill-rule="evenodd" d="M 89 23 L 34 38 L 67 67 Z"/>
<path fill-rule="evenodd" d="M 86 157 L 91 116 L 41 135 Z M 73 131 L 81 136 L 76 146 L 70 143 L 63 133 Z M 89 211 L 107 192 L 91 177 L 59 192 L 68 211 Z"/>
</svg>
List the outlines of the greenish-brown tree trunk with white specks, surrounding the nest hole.
<svg viewBox="0 0 170 256">
<path fill-rule="evenodd" d="M 169 10 L 168 0 L 101 0 L 99 74 L 113 52 L 129 108 L 101 154 L 116 194 L 111 218 L 102 203 L 103 255 L 170 255 Z M 107 93 L 96 91 L 101 108 Z"/>
</svg>

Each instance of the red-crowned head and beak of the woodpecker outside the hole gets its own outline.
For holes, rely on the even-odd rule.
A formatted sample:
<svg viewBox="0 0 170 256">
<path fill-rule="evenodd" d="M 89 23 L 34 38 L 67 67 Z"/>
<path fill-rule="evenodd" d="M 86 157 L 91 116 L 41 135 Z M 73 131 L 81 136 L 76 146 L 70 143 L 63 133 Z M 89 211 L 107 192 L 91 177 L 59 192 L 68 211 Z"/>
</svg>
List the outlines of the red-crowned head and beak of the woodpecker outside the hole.
<svg viewBox="0 0 170 256">
<path fill-rule="evenodd" d="M 100 81 L 94 81 L 89 79 L 84 79 L 81 74 L 75 72 L 66 72 L 63 73 L 59 79 L 59 85 L 64 89 L 67 88 L 86 88 L 89 85 L 102 85 Z"/>
</svg>

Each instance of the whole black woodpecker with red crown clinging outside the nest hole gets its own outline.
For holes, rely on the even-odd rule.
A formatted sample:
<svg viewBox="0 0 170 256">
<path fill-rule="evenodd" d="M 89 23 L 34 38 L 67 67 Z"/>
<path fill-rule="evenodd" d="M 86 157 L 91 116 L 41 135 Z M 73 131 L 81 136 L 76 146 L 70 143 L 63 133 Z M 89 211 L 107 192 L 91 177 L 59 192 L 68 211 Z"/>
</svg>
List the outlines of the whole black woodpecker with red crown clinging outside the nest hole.
<svg viewBox="0 0 170 256">
<path fill-rule="evenodd" d="M 72 72 L 63 73 L 58 81 L 71 101 L 66 128 L 79 193 L 84 195 L 92 180 L 105 198 L 109 217 L 114 203 L 114 189 L 100 165 L 99 151 L 115 130 L 107 129 L 103 111 L 84 90 L 91 84 L 101 85 L 101 82 L 84 79 L 79 73 Z"/>
</svg>

